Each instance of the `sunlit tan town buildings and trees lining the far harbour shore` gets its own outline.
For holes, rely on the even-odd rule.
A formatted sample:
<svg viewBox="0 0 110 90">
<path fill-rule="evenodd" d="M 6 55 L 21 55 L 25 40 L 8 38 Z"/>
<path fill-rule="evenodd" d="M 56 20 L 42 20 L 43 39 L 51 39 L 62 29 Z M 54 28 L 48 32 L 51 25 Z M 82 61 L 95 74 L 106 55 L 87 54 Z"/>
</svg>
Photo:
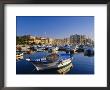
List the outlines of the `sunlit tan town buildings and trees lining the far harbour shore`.
<svg viewBox="0 0 110 90">
<path fill-rule="evenodd" d="M 48 38 L 32 35 L 24 35 L 16 37 L 17 44 L 45 44 L 45 45 L 66 45 L 66 44 L 93 44 L 94 40 L 87 38 L 86 35 L 70 35 L 69 38 Z"/>
</svg>

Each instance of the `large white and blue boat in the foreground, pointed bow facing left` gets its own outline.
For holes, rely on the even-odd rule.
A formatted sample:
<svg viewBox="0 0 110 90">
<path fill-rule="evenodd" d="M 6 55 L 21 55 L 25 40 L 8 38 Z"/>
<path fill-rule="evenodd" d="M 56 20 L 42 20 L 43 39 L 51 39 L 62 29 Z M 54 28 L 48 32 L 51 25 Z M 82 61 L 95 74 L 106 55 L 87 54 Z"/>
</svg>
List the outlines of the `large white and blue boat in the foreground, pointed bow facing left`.
<svg viewBox="0 0 110 90">
<path fill-rule="evenodd" d="M 45 70 L 45 69 L 58 69 L 64 66 L 67 66 L 71 63 L 71 58 L 59 58 L 60 56 L 57 54 L 48 55 L 46 58 L 31 60 L 26 59 L 31 62 L 37 70 Z"/>
</svg>

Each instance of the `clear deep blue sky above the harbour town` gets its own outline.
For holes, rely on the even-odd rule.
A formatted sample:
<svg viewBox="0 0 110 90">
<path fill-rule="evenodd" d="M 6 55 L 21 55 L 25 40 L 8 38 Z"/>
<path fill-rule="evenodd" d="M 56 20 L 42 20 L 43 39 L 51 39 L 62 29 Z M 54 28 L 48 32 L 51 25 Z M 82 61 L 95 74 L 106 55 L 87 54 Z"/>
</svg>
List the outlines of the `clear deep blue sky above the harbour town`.
<svg viewBox="0 0 110 90">
<path fill-rule="evenodd" d="M 94 38 L 93 16 L 17 16 L 17 35 L 65 38 L 83 34 Z"/>
</svg>

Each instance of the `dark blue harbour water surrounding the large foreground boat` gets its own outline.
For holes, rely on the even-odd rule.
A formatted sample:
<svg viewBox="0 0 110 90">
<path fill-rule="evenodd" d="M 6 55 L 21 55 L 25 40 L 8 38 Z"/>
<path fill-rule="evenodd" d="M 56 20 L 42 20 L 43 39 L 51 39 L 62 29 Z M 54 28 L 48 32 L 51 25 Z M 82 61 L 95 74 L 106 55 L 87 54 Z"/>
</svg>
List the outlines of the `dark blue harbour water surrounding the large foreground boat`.
<svg viewBox="0 0 110 90">
<path fill-rule="evenodd" d="M 65 52 L 58 52 L 62 57 L 69 55 Z M 48 55 L 48 52 L 36 52 L 32 54 L 24 54 L 22 60 L 16 61 L 16 74 L 59 74 L 58 71 L 63 71 L 66 74 L 94 74 L 94 56 L 84 56 L 83 53 L 75 53 L 72 63 L 62 70 L 43 70 L 37 71 L 34 65 L 26 58 L 38 59 Z M 66 71 L 65 71 L 66 69 Z"/>
</svg>

